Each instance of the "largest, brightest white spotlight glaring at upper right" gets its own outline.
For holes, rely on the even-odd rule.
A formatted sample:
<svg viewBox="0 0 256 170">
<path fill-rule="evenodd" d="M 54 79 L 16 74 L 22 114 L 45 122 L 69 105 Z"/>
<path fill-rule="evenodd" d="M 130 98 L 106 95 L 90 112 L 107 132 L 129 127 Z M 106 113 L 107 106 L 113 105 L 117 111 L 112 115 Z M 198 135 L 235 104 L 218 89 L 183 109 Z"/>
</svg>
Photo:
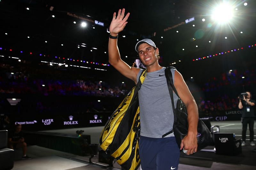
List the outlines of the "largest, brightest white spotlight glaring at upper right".
<svg viewBox="0 0 256 170">
<path fill-rule="evenodd" d="M 229 4 L 220 4 L 212 13 L 212 19 L 220 23 L 228 22 L 233 17 L 233 8 Z"/>
</svg>

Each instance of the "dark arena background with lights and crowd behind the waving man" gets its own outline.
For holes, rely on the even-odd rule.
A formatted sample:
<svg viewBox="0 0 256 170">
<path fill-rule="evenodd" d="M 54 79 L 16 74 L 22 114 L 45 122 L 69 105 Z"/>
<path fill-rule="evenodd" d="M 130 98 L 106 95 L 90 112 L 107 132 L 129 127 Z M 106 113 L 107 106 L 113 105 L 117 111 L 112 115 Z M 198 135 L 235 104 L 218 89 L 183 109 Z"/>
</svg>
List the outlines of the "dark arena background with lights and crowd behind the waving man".
<svg viewBox="0 0 256 170">
<path fill-rule="evenodd" d="M 122 60 L 143 68 L 134 48 L 152 39 L 159 64 L 182 74 L 215 136 L 192 156 L 181 152 L 179 169 L 255 169 L 238 108 L 241 93 L 256 99 L 255 0 L 0 0 L 0 128 L 22 124 L 32 157 L 15 149 L 14 166 L 0 159 L 0 169 L 121 169 L 98 144 L 135 85 L 108 63 L 109 25 L 122 8 L 130 12 L 118 35 Z"/>
</svg>

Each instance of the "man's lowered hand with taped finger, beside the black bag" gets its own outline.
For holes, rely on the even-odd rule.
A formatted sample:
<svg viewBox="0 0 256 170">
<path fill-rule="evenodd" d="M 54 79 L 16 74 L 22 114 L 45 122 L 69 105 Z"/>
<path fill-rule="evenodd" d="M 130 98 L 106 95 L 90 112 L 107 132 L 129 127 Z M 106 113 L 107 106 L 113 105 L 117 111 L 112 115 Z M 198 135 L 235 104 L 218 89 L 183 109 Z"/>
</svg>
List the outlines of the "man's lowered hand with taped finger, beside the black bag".
<svg viewBox="0 0 256 170">
<path fill-rule="evenodd" d="M 188 133 L 182 140 L 180 144 L 180 150 L 183 149 L 187 151 L 187 155 L 197 152 L 197 138 L 194 133 Z"/>
</svg>

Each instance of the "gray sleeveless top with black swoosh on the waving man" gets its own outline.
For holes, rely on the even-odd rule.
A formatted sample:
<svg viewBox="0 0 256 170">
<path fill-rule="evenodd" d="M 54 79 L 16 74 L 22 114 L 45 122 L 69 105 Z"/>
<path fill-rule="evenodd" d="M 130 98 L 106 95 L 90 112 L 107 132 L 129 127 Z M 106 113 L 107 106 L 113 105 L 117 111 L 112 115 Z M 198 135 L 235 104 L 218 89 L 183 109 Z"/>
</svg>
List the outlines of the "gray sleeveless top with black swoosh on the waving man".
<svg viewBox="0 0 256 170">
<path fill-rule="evenodd" d="M 146 78 L 139 90 L 140 104 L 140 135 L 144 137 L 162 138 L 162 135 L 172 130 L 174 115 L 172 101 L 168 91 L 163 67 L 161 70 L 147 72 Z M 171 69 L 174 82 L 175 69 Z M 140 70 L 137 75 L 139 80 Z M 163 76 L 162 76 L 163 75 Z M 173 92 L 174 107 L 178 100 Z M 173 133 L 166 137 L 174 136 Z"/>
</svg>

